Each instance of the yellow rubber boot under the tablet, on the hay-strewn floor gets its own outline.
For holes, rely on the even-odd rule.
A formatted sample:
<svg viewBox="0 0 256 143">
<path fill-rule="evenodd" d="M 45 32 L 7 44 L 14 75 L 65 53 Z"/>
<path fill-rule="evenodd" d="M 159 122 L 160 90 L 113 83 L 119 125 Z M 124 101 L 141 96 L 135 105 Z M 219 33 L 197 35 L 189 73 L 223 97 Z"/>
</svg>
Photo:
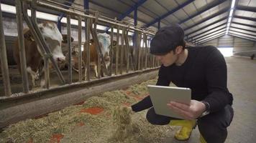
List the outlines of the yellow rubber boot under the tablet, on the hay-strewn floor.
<svg viewBox="0 0 256 143">
<path fill-rule="evenodd" d="M 196 127 L 196 120 L 171 120 L 170 125 L 181 126 L 174 137 L 179 141 L 185 141 L 191 137 L 192 129 Z"/>
</svg>

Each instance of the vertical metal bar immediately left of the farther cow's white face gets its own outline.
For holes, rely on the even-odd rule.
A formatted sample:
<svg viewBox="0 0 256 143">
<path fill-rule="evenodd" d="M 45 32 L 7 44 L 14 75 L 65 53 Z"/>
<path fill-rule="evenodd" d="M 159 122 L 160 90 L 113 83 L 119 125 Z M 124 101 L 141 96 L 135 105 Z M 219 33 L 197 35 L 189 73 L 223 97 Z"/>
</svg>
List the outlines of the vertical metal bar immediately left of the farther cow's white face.
<svg viewBox="0 0 256 143">
<path fill-rule="evenodd" d="M 91 24 L 91 19 L 90 18 L 86 18 L 86 47 L 83 47 L 86 52 L 83 52 L 84 54 L 86 54 L 86 81 L 90 81 L 90 24 Z"/>
</svg>

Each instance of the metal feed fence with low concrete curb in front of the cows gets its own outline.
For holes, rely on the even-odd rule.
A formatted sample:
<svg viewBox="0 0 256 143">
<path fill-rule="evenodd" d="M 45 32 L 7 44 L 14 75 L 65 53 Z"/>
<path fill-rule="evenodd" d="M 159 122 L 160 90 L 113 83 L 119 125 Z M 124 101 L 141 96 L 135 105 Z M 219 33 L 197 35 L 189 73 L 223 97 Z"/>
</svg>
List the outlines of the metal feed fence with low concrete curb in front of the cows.
<svg viewBox="0 0 256 143">
<path fill-rule="evenodd" d="M 143 82 L 148 79 L 155 78 L 157 75 L 157 68 L 160 65 L 155 57 L 149 54 L 148 44 L 150 36 L 153 35 L 152 31 L 147 29 L 139 29 L 136 26 L 124 24 L 116 19 L 109 19 L 99 15 L 97 11 L 90 11 L 90 14 L 81 13 L 72 9 L 63 8 L 62 4 L 55 1 L 15 1 L 17 10 L 17 29 L 19 37 L 19 45 L 22 45 L 23 39 L 23 25 L 28 26 L 32 31 L 35 41 L 40 46 L 42 51 L 45 51 L 43 56 L 43 65 L 45 74 L 42 75 L 45 79 L 45 88 L 38 86 L 32 87 L 27 74 L 26 59 L 24 58 L 24 46 L 20 46 L 21 54 L 21 74 L 19 76 L 18 69 L 15 66 L 7 68 L 6 56 L 1 56 L 2 67 L 2 84 L 1 87 L 1 121 L 0 127 L 6 127 L 9 124 L 19 122 L 20 120 L 38 117 L 42 114 L 62 109 L 72 104 L 83 102 L 88 97 L 95 94 L 110 91 L 114 89 L 121 89 L 128 87 L 131 84 Z M 42 20 L 37 20 L 37 9 L 49 9 L 50 11 L 61 11 L 67 16 L 67 23 L 65 24 L 65 30 L 68 37 L 68 48 L 63 49 L 67 51 L 68 55 L 68 69 L 60 70 L 59 66 L 52 59 L 50 49 L 42 39 L 42 34 L 38 30 L 37 22 L 40 23 Z M 27 14 L 27 9 L 31 10 L 31 17 Z M 72 17 L 72 19 L 71 19 Z M 1 16 L 2 18 L 2 16 Z M 22 20 L 24 19 L 24 21 Z M 77 26 L 73 26 L 72 29 L 76 29 L 78 34 L 78 41 L 71 43 L 71 24 L 70 21 L 76 21 Z M 1 42 L 3 47 L 6 49 L 4 41 L 4 33 L 2 29 L 1 19 Z M 86 28 L 82 28 L 85 26 Z M 102 51 L 99 48 L 97 52 L 100 56 L 97 71 L 102 73 L 99 77 L 93 77 L 93 73 L 90 68 L 90 59 L 86 59 L 86 66 L 82 67 L 82 45 L 84 41 L 89 41 L 90 36 L 93 41 L 96 42 L 96 46 L 100 47 L 99 39 L 97 34 L 102 31 L 96 30 L 96 25 L 104 24 L 109 26 L 109 35 L 111 40 L 111 68 L 106 69 L 106 63 L 104 63 Z M 86 32 L 82 31 L 84 29 Z M 116 31 L 114 33 L 114 30 Z M 132 48 L 129 45 L 129 39 L 131 38 L 129 32 L 137 33 L 137 44 Z M 82 41 L 82 33 L 85 35 Z M 116 41 L 115 47 L 113 41 Z M 140 45 L 139 43 L 142 43 Z M 89 44 L 85 45 L 84 49 L 88 51 Z M 80 47 L 80 48 L 79 48 Z M 71 53 L 77 52 L 78 55 L 78 69 L 73 71 L 71 64 Z M 6 54 L 2 52 L 1 54 Z M 86 53 L 90 55 L 90 51 Z M 88 57 L 88 56 L 87 56 Z M 125 61 L 125 63 L 124 63 Z M 49 62 L 52 63 L 54 69 L 49 71 Z M 7 66 L 6 66 L 7 65 Z M 86 75 L 84 74 L 85 69 Z M 9 76 L 11 74 L 11 76 Z M 12 77 L 12 78 L 6 78 Z"/>
</svg>

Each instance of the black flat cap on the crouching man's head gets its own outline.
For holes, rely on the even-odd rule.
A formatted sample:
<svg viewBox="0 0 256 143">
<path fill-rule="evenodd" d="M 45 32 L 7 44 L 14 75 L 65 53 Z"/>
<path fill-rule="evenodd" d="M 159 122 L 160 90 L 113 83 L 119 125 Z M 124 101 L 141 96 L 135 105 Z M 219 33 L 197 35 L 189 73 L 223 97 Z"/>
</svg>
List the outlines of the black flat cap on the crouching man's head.
<svg viewBox="0 0 256 143">
<path fill-rule="evenodd" d="M 157 31 L 150 43 L 151 54 L 166 54 L 177 46 L 183 46 L 184 31 L 179 24 L 170 24 Z"/>
</svg>

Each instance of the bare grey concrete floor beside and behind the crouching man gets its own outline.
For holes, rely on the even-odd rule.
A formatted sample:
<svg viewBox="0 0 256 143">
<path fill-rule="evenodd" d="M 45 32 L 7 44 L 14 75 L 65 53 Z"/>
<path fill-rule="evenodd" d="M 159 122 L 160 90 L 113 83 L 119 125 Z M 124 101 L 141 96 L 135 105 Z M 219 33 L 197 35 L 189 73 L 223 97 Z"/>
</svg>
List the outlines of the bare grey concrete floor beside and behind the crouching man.
<svg viewBox="0 0 256 143">
<path fill-rule="evenodd" d="M 234 96 L 234 118 L 228 128 L 228 143 L 256 142 L 256 60 L 239 56 L 226 58 L 228 88 Z M 166 143 L 181 143 L 173 139 L 174 132 Z M 186 142 L 198 143 L 198 128 Z"/>
</svg>

